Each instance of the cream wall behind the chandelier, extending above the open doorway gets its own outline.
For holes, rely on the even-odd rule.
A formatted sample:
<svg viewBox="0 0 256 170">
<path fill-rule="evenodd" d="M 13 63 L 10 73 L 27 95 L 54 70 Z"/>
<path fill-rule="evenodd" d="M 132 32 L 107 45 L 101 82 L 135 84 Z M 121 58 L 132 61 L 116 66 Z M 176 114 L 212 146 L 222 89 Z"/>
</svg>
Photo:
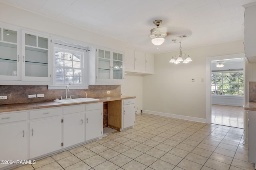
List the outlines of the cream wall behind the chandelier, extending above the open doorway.
<svg viewBox="0 0 256 170">
<path fill-rule="evenodd" d="M 243 53 L 243 41 L 182 51 L 191 63 L 169 63 L 178 51 L 155 55 L 155 74 L 143 77 L 143 110 L 205 122 L 206 57 Z"/>
</svg>

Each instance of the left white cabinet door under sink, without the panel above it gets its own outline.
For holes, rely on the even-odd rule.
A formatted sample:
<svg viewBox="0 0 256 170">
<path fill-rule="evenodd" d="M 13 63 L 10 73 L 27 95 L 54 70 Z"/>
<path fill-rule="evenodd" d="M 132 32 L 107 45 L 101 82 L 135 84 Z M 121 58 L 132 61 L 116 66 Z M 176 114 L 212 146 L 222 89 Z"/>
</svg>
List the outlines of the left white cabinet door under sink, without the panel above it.
<svg viewBox="0 0 256 170">
<path fill-rule="evenodd" d="M 84 113 L 65 115 L 63 118 L 63 147 L 84 142 L 84 131 Z"/>
</svg>

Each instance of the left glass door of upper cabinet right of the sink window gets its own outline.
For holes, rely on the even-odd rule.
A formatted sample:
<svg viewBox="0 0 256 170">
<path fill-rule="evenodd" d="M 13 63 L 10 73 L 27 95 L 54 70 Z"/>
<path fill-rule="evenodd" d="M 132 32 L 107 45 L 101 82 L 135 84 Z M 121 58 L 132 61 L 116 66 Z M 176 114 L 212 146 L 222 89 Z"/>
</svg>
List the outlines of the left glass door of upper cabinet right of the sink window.
<svg viewBox="0 0 256 170">
<path fill-rule="evenodd" d="M 98 50 L 98 79 L 110 80 L 110 51 Z"/>
</svg>

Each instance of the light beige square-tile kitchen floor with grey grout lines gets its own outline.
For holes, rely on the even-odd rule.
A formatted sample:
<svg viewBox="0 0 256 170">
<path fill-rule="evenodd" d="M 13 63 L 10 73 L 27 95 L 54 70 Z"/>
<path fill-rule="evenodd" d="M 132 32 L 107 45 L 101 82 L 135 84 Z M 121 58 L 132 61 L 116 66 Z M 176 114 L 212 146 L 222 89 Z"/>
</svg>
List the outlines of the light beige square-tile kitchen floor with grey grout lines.
<svg viewBox="0 0 256 170">
<path fill-rule="evenodd" d="M 243 129 L 146 113 L 133 129 L 15 170 L 254 170 Z"/>
</svg>

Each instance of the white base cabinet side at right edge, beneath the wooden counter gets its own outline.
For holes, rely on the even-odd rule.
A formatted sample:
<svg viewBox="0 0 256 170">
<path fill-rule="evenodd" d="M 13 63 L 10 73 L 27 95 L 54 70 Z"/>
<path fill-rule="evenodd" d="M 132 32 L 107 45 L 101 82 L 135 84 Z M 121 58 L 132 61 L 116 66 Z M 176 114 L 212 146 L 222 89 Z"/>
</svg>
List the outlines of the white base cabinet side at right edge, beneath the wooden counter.
<svg viewBox="0 0 256 170">
<path fill-rule="evenodd" d="M 248 111 L 248 161 L 256 163 L 256 111 Z"/>
</svg>

